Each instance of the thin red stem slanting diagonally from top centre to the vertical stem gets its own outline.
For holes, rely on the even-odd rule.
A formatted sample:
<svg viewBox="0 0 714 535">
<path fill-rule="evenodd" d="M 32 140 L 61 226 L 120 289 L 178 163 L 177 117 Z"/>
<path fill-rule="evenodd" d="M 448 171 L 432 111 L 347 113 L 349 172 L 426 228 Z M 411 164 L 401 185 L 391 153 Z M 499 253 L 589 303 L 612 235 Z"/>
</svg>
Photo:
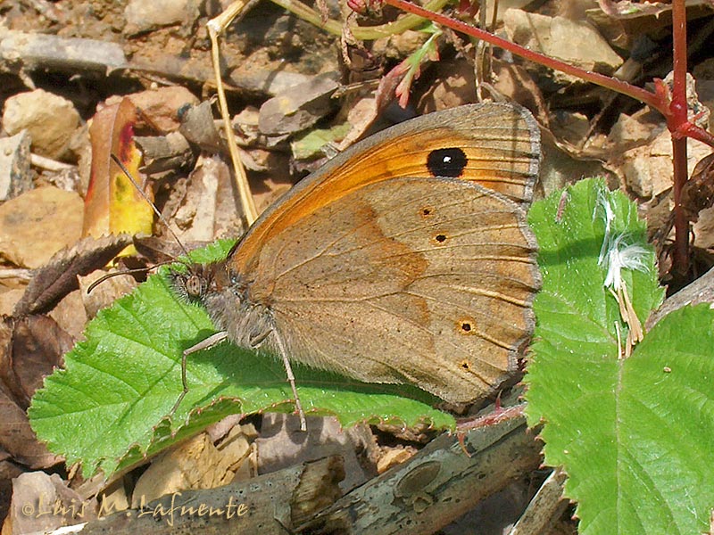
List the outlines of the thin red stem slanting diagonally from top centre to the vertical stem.
<svg viewBox="0 0 714 535">
<path fill-rule="evenodd" d="M 598 86 L 607 87 L 608 89 L 611 89 L 612 91 L 617 91 L 622 95 L 631 96 L 632 98 L 642 103 L 650 105 L 655 110 L 660 111 L 660 113 L 662 113 L 663 115 L 668 116 L 668 109 L 666 103 L 664 103 L 658 95 L 655 95 L 650 91 L 642 89 L 641 87 L 632 86 L 631 84 L 623 82 L 622 80 L 619 80 L 617 78 L 610 78 L 609 76 L 605 76 L 603 74 L 599 74 L 591 70 L 580 69 L 573 65 L 569 65 L 566 62 L 560 62 L 560 60 L 556 60 L 542 53 L 537 53 L 532 50 L 529 50 L 525 46 L 516 45 L 515 43 L 511 43 L 511 41 L 503 39 L 502 37 L 494 36 L 494 34 L 488 33 L 483 29 L 475 28 L 474 26 L 470 26 L 465 22 L 456 21 L 451 17 L 447 17 L 446 15 L 443 15 L 441 13 L 428 11 L 427 9 L 424 9 L 419 5 L 411 4 L 410 2 L 406 2 L 405 0 L 384 1 L 385 4 L 394 5 L 394 7 L 397 7 L 405 12 L 414 13 L 416 15 L 419 15 L 420 17 L 424 17 L 425 19 L 428 19 L 430 21 L 443 24 L 447 28 L 460 31 L 461 33 L 465 33 L 466 35 L 469 35 L 471 37 L 483 39 L 487 43 L 499 46 L 505 50 L 510 51 L 511 53 L 519 55 L 522 58 L 530 60 L 531 62 L 540 63 L 542 65 L 545 65 L 546 67 L 550 67 L 555 70 L 560 70 L 561 72 L 565 72 L 566 74 L 581 78 L 588 82 L 592 82 Z"/>
</svg>

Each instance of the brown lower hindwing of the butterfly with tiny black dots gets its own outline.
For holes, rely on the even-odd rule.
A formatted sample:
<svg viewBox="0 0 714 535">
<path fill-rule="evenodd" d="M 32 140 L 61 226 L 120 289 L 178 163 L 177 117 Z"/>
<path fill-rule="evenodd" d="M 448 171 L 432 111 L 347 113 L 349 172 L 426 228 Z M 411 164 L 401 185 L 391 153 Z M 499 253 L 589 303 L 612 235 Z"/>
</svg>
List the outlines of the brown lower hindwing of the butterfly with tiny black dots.
<svg viewBox="0 0 714 535">
<path fill-rule="evenodd" d="M 480 185 L 365 185 L 262 247 L 251 295 L 290 358 L 478 399 L 517 366 L 540 279 L 524 210 Z"/>
</svg>

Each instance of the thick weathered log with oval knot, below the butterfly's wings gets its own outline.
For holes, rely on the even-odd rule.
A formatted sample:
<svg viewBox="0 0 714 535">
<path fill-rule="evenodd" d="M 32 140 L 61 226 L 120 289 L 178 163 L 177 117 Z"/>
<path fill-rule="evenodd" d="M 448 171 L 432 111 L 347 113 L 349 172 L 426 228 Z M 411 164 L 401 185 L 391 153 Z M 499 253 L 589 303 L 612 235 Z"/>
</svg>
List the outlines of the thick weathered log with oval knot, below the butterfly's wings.
<svg viewBox="0 0 714 535">
<path fill-rule="evenodd" d="M 457 436 L 444 434 L 402 465 L 337 500 L 298 531 L 433 533 L 537 468 L 541 446 L 520 415 L 472 429 L 463 436 L 463 447 Z"/>
</svg>

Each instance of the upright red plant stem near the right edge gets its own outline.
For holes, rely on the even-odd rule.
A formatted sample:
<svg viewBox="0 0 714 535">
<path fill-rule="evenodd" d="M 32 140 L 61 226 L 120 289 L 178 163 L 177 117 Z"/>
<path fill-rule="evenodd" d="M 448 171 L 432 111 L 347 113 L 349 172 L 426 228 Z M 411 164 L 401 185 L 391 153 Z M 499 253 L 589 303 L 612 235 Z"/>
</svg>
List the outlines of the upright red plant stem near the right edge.
<svg viewBox="0 0 714 535">
<path fill-rule="evenodd" d="M 686 103 L 686 8 L 685 0 L 672 2 L 672 37 L 674 74 L 672 100 L 669 103 L 668 126 L 684 125 L 687 121 Z M 672 268 L 684 275 L 689 267 L 689 221 L 682 207 L 682 187 L 687 180 L 686 137 L 672 136 L 675 198 L 675 251 Z"/>
</svg>

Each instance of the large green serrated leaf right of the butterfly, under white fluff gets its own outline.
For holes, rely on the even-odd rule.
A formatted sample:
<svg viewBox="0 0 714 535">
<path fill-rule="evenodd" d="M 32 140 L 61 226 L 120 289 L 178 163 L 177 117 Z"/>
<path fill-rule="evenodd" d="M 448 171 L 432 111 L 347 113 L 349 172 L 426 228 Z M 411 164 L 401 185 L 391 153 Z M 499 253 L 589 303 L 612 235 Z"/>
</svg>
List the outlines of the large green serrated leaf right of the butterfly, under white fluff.
<svg viewBox="0 0 714 535">
<path fill-rule="evenodd" d="M 569 475 L 581 533 L 700 533 L 714 506 L 714 312 L 707 305 L 669 315 L 630 358 L 619 358 L 627 327 L 603 287 L 598 258 L 605 235 L 602 199 L 614 208 L 613 232 L 645 246 L 635 205 L 599 180 L 569 189 L 530 213 L 544 287 L 527 368 L 529 424 L 544 422 L 545 462 Z M 600 199 L 600 201 L 598 201 Z M 624 279 L 644 322 L 662 290 L 649 253 L 643 271 Z"/>
</svg>

